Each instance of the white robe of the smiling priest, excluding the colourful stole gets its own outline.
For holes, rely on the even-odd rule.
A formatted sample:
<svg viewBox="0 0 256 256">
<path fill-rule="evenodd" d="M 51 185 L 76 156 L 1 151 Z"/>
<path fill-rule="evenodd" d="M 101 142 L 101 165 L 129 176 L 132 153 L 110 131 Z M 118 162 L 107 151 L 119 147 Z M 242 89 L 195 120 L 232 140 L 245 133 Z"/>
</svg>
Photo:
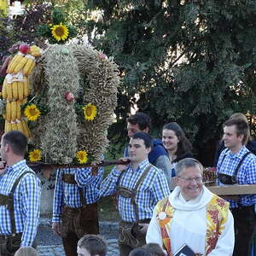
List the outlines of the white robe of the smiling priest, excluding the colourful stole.
<svg viewBox="0 0 256 256">
<path fill-rule="evenodd" d="M 190 201 L 184 200 L 179 187 L 176 187 L 169 195 L 168 199 L 175 209 L 172 220 L 166 224 L 166 230 L 171 239 L 172 254 L 176 253 L 184 244 L 187 244 L 195 253 L 205 255 L 207 204 L 212 200 L 212 196 L 212 192 L 206 187 L 203 187 L 201 195 Z M 229 256 L 233 253 L 235 243 L 234 219 L 230 210 L 228 211 L 224 230 L 218 237 L 216 247 L 207 256 Z M 148 226 L 146 241 L 147 243 L 158 243 L 163 247 L 156 207 Z"/>
</svg>

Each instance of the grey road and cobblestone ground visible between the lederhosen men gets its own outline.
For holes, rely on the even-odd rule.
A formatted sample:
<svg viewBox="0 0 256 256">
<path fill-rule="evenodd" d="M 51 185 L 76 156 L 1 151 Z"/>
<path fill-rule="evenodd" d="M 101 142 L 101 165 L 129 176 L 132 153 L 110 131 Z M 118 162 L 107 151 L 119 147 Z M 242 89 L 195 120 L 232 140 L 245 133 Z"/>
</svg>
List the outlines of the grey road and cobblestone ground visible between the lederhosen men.
<svg viewBox="0 0 256 256">
<path fill-rule="evenodd" d="M 65 256 L 61 239 L 59 236 L 53 235 L 50 226 L 49 218 L 40 218 L 37 236 L 39 256 Z M 108 243 L 107 256 L 118 256 L 118 223 L 100 222 L 100 235 Z"/>
</svg>

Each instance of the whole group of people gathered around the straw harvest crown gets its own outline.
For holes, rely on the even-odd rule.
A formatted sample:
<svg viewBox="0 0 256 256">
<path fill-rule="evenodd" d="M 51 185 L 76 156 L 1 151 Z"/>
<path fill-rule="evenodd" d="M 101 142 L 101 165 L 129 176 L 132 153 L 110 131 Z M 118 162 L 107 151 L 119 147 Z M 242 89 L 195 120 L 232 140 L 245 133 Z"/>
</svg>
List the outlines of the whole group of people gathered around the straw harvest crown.
<svg viewBox="0 0 256 256">
<path fill-rule="evenodd" d="M 127 131 L 124 157 L 104 179 L 102 168 L 57 170 L 52 230 L 61 236 L 65 254 L 106 255 L 106 242 L 98 236 L 97 201 L 114 195 L 121 218 L 121 256 L 249 256 L 256 195 L 212 194 L 203 183 L 204 168 L 193 158 L 191 143 L 176 122 L 164 125 L 161 140 L 152 139 L 148 115 L 136 113 L 127 119 Z M 244 115 L 236 113 L 224 122 L 214 160 L 220 186 L 256 184 L 255 145 Z M 26 166 L 26 146 L 20 131 L 2 137 L 3 256 L 37 255 L 41 186 Z"/>
</svg>

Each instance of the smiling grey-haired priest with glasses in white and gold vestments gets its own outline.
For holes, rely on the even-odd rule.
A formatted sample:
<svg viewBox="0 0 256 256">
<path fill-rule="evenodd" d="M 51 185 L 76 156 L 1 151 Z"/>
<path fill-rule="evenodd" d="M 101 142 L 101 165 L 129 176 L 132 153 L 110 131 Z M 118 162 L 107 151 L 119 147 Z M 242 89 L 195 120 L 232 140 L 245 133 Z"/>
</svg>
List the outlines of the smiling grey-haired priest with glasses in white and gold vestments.
<svg viewBox="0 0 256 256">
<path fill-rule="evenodd" d="M 154 208 L 147 243 L 160 244 L 167 255 L 231 256 L 235 235 L 229 203 L 203 185 L 198 160 L 178 161 L 176 174 L 177 187 Z"/>
</svg>

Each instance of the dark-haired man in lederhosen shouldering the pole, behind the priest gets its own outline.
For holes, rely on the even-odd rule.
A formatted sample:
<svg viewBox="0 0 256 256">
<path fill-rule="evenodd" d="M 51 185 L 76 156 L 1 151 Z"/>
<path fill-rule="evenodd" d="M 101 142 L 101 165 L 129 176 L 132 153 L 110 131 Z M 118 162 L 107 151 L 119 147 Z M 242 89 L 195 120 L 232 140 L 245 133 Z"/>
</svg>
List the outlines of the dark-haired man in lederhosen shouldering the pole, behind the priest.
<svg viewBox="0 0 256 256">
<path fill-rule="evenodd" d="M 151 146 L 152 138 L 148 133 L 135 133 L 129 143 L 131 163 L 117 165 L 101 185 L 100 196 L 118 194 L 122 218 L 119 223 L 121 256 L 128 256 L 133 248 L 145 244 L 154 206 L 170 193 L 164 173 L 148 162 Z"/>
</svg>

